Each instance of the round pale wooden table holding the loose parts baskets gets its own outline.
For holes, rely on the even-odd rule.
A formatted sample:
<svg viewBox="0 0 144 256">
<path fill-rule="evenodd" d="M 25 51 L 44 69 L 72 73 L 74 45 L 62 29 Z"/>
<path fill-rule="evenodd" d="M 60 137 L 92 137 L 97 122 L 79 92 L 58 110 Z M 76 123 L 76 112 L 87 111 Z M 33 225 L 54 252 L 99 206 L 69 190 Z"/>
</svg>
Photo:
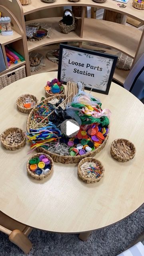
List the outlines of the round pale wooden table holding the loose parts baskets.
<svg viewBox="0 0 144 256">
<path fill-rule="evenodd" d="M 29 76 L 0 91 L 0 134 L 16 126 L 26 130 L 28 114 L 19 112 L 16 99 L 21 94 L 45 96 L 46 81 L 57 72 Z M 30 145 L 10 151 L 0 144 L 0 210 L 27 226 L 52 232 L 81 233 L 114 224 L 134 212 L 144 202 L 144 105 L 130 92 L 112 83 L 108 95 L 100 98 L 109 108 L 110 136 L 105 148 L 96 155 L 105 166 L 104 178 L 85 184 L 78 178 L 77 164 L 54 163 L 54 172 L 42 181 L 26 172 Z M 118 162 L 110 155 L 116 138 L 126 138 L 136 146 L 136 156 Z M 34 154 L 34 153 L 33 153 Z"/>
</svg>

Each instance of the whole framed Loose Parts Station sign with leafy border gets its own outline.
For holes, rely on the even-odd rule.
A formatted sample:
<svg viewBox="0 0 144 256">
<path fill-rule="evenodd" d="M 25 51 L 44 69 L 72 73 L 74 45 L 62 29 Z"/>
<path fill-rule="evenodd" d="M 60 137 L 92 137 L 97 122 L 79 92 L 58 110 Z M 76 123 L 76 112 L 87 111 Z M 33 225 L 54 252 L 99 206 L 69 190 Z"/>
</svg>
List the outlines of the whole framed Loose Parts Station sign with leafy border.
<svg viewBox="0 0 144 256">
<path fill-rule="evenodd" d="M 81 82 L 87 90 L 108 94 L 118 57 L 60 44 L 58 80 Z"/>
</svg>

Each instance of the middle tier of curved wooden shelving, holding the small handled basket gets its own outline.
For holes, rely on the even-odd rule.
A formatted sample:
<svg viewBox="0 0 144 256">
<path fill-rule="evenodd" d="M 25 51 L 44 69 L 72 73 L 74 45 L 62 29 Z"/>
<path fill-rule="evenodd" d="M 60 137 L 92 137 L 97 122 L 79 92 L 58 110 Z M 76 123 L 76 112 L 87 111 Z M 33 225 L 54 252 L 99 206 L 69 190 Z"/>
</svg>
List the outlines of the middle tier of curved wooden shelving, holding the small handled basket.
<svg viewBox="0 0 144 256">
<path fill-rule="evenodd" d="M 32 20 L 31 22 L 47 22 L 52 26 L 51 38 L 44 38 L 40 41 L 28 41 L 28 51 L 31 52 L 41 46 L 59 42 L 86 41 L 111 46 L 116 50 L 126 53 L 134 58 L 142 32 L 136 28 L 124 26 L 122 24 L 108 22 L 106 20 L 84 19 L 83 37 L 78 36 L 78 32 L 72 31 L 69 34 L 63 34 L 58 27 L 60 17 L 44 18 Z M 26 24 L 30 23 L 26 22 Z"/>
</svg>

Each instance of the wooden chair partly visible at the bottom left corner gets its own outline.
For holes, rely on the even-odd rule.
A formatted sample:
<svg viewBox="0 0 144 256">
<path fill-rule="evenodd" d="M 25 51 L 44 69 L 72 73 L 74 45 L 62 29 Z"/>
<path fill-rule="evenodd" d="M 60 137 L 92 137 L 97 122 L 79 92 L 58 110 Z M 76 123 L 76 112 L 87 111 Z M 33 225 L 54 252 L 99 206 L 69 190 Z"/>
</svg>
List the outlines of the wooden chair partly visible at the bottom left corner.
<svg viewBox="0 0 144 256">
<path fill-rule="evenodd" d="M 32 228 L 20 224 L 0 212 L 0 231 L 7 234 L 10 242 L 16 244 L 24 253 L 28 254 L 31 250 L 32 243 L 27 236 Z"/>
</svg>

